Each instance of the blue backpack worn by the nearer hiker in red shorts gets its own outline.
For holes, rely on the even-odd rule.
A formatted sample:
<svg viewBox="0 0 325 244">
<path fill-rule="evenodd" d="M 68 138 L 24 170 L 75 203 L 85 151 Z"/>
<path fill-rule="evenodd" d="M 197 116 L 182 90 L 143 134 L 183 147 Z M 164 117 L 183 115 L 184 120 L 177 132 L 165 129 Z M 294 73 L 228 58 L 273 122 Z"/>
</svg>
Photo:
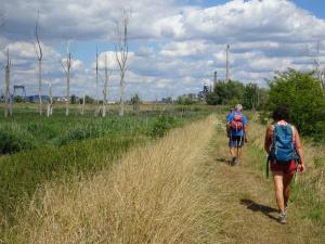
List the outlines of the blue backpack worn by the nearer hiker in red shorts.
<svg viewBox="0 0 325 244">
<path fill-rule="evenodd" d="M 291 125 L 274 125 L 270 159 L 282 163 L 299 159 L 295 149 L 294 127 Z"/>
</svg>

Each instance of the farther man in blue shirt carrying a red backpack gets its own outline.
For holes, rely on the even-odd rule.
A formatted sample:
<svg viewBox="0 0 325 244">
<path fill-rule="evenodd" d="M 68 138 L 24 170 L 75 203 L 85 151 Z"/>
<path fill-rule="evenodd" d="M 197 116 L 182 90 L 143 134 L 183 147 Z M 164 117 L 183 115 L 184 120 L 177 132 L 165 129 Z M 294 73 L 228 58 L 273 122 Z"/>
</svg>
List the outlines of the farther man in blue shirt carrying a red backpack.
<svg viewBox="0 0 325 244">
<path fill-rule="evenodd" d="M 247 118 L 242 114 L 242 104 L 236 104 L 235 111 L 226 118 L 226 129 L 230 130 L 229 147 L 232 155 L 231 165 L 236 165 L 242 159 L 242 147 L 246 139 Z"/>
</svg>

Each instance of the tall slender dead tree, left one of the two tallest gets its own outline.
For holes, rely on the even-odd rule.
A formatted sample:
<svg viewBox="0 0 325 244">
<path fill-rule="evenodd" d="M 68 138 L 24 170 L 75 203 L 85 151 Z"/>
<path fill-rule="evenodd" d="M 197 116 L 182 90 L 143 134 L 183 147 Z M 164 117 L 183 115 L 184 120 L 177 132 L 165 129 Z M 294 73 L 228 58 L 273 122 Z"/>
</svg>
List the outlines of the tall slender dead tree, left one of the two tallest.
<svg viewBox="0 0 325 244">
<path fill-rule="evenodd" d="M 35 51 L 38 60 L 38 100 L 39 100 L 39 114 L 42 115 L 42 59 L 43 59 L 43 52 L 42 52 L 42 47 L 39 40 L 39 34 L 38 34 L 38 28 L 39 28 L 39 11 L 37 15 L 37 21 L 35 24 L 35 38 L 36 41 L 34 42 L 35 44 Z"/>
</svg>

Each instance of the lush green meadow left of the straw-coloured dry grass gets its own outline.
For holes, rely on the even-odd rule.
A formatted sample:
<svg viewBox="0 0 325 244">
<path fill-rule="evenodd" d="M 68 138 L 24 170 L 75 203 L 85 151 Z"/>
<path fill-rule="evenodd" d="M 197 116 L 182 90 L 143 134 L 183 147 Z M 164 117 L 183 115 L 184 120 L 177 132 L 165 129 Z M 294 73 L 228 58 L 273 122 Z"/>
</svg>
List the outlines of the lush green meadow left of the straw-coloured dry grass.
<svg viewBox="0 0 325 244">
<path fill-rule="evenodd" d="M 156 108 L 156 110 L 153 110 Z M 142 107 L 120 117 L 112 107 L 105 118 L 94 116 L 94 107 L 78 114 L 39 116 L 36 106 L 15 107 L 13 117 L 0 117 L 0 224 L 14 224 L 18 206 L 28 203 L 46 182 L 89 177 L 109 168 L 134 146 L 165 136 L 211 113 L 205 107 Z M 3 111 L 0 111 L 2 113 Z"/>
</svg>

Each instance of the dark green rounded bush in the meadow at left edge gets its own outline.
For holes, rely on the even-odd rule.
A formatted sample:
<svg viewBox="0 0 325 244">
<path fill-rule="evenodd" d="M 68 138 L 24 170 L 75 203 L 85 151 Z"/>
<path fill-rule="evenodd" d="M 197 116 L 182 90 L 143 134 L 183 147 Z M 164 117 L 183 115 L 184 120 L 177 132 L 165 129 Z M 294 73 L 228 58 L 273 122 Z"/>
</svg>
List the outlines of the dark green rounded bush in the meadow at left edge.
<svg viewBox="0 0 325 244">
<path fill-rule="evenodd" d="M 16 153 L 35 147 L 31 134 L 15 126 L 0 128 L 0 154 Z"/>
</svg>

